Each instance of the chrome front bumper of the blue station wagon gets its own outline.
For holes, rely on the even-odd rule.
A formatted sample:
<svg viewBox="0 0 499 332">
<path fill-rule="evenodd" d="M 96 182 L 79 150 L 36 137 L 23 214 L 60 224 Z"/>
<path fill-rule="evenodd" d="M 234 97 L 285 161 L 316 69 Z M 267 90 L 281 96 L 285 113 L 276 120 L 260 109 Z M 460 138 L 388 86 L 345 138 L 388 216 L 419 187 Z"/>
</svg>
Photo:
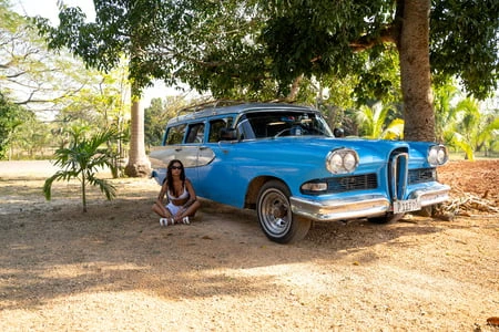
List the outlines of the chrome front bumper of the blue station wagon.
<svg viewBox="0 0 499 332">
<path fill-rule="evenodd" d="M 437 184 L 413 191 L 409 198 L 419 199 L 421 207 L 426 207 L 447 200 L 449 190 L 449 186 Z M 317 221 L 378 217 L 393 210 L 390 200 L 380 194 L 322 201 L 289 197 L 289 201 L 294 214 Z"/>
</svg>

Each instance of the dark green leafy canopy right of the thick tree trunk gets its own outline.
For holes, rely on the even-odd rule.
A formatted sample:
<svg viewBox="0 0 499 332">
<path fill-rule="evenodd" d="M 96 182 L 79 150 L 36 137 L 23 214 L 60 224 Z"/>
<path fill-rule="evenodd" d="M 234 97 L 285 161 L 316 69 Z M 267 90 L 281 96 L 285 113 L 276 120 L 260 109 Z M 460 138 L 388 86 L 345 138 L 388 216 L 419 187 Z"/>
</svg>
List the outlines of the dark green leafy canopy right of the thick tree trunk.
<svg viewBox="0 0 499 332">
<path fill-rule="evenodd" d="M 430 60 L 434 75 L 458 76 L 478 100 L 498 89 L 499 1 L 432 1 Z"/>
</svg>

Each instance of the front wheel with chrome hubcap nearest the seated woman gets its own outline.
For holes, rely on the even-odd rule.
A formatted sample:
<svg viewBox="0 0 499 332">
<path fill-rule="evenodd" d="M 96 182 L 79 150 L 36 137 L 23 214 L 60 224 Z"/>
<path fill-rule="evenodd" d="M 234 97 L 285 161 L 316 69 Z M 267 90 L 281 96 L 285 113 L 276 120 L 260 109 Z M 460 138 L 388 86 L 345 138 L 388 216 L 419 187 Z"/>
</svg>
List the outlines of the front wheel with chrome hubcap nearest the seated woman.
<svg viewBox="0 0 499 332">
<path fill-rule="evenodd" d="M 310 229 L 309 219 L 296 216 L 289 205 L 289 189 L 278 180 L 266 183 L 258 193 L 256 211 L 267 238 L 278 243 L 302 240 Z"/>
</svg>

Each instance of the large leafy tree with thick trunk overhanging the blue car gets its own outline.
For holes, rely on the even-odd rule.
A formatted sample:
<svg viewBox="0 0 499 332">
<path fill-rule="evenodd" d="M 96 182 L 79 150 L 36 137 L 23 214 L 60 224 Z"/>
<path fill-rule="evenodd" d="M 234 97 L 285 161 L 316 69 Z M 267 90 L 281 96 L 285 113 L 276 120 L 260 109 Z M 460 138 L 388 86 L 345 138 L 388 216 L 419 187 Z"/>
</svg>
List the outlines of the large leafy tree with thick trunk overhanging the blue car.
<svg viewBox="0 0 499 332">
<path fill-rule="evenodd" d="M 377 59 L 397 50 L 405 137 L 432 141 L 431 73 L 459 77 L 480 98 L 497 89 L 496 0 L 94 3 L 94 23 L 84 22 L 79 9 L 61 8 L 58 29 L 40 27 L 52 48 L 69 46 L 100 69 L 129 55 L 139 93 L 160 79 L 185 82 L 215 97 L 295 100 L 301 84 L 365 76 Z M 383 75 L 369 80 L 379 80 L 370 86 L 386 86 Z"/>
</svg>

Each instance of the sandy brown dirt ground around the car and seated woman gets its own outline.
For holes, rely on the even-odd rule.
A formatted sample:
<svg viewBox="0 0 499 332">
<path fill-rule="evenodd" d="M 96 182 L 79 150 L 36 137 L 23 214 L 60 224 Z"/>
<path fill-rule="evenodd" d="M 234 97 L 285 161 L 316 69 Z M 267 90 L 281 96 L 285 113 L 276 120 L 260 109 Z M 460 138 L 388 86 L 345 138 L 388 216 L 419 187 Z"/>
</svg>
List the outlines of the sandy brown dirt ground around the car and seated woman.
<svg viewBox="0 0 499 332">
<path fill-rule="evenodd" d="M 440 168 L 447 218 L 316 222 L 286 246 L 206 200 L 160 227 L 152 179 L 92 189 L 86 214 L 77 183 L 45 201 L 49 166 L 0 163 L 0 331 L 499 331 L 499 159 Z"/>
</svg>

